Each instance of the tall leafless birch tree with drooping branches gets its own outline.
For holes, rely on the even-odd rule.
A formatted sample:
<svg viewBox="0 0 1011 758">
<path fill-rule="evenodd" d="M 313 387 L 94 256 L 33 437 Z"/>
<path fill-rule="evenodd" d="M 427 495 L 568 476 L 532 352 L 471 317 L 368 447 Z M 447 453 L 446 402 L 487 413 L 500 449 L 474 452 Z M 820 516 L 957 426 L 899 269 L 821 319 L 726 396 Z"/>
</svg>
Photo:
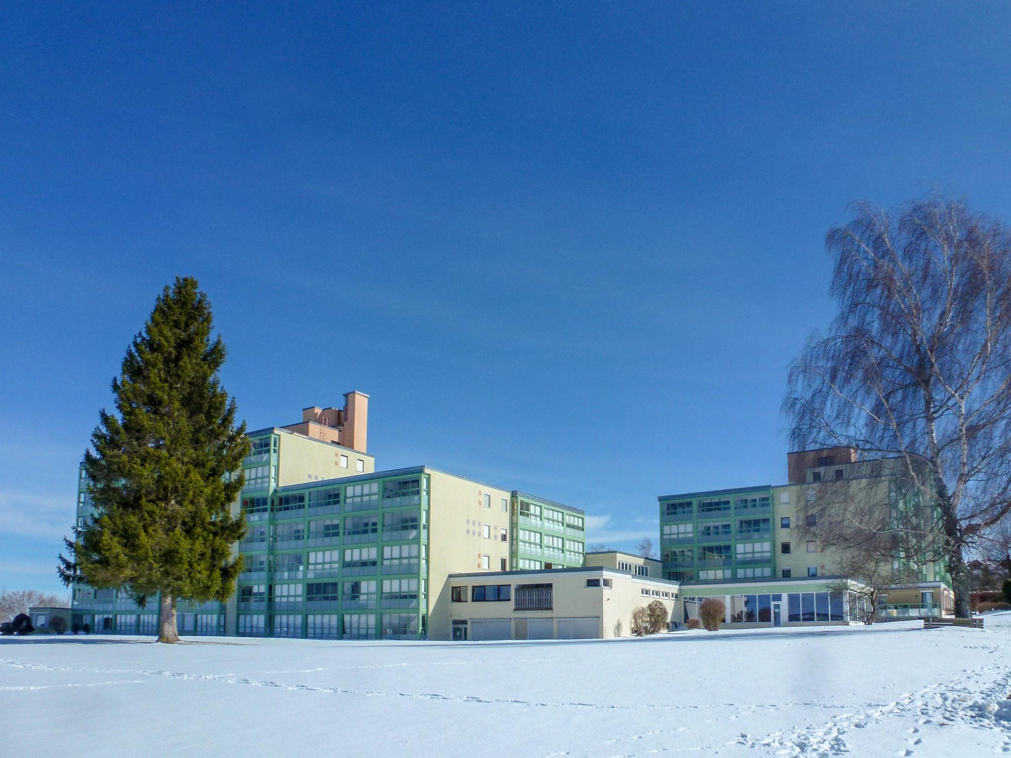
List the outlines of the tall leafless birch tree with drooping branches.
<svg viewBox="0 0 1011 758">
<path fill-rule="evenodd" d="M 1008 229 L 930 195 L 856 204 L 826 247 L 839 313 L 791 368 L 792 443 L 897 459 L 919 512 L 877 529 L 934 533 L 969 617 L 967 555 L 1011 512 Z"/>
</svg>

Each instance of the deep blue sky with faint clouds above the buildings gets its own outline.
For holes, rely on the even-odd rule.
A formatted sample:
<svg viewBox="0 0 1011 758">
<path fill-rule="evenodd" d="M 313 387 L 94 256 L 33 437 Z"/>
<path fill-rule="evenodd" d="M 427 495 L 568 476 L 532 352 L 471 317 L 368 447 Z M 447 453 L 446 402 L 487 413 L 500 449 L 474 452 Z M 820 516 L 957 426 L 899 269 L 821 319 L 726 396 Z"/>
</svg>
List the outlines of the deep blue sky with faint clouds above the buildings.
<svg viewBox="0 0 1011 758">
<path fill-rule="evenodd" d="M 0 586 L 60 589 L 77 463 L 196 276 L 251 428 L 372 397 L 427 463 L 655 539 L 785 479 L 789 362 L 846 204 L 1011 219 L 1003 3 L 8 9 Z"/>
</svg>

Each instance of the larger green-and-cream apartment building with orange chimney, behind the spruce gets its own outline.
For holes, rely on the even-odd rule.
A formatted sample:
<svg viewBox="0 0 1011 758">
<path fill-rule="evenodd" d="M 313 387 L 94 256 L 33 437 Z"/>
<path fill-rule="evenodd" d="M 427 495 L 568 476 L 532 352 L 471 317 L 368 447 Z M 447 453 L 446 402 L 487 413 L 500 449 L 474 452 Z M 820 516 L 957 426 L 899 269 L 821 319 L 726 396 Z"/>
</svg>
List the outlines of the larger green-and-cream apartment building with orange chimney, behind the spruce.
<svg viewBox="0 0 1011 758">
<path fill-rule="evenodd" d="M 368 399 L 349 392 L 343 408 L 249 433 L 236 594 L 180 603 L 181 634 L 448 639 L 451 573 L 583 565 L 577 508 L 430 466 L 376 471 Z M 93 508 L 79 482 L 82 524 Z M 124 591 L 74 591 L 74 621 L 98 632 L 153 633 L 157 607 Z"/>
</svg>

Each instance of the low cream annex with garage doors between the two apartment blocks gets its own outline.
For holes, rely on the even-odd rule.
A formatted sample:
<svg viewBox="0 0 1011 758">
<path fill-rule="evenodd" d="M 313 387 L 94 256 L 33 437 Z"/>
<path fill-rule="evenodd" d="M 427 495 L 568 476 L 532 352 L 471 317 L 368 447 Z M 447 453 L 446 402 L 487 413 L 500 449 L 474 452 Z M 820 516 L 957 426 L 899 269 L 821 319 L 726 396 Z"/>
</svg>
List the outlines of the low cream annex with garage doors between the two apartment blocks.
<svg viewBox="0 0 1011 758">
<path fill-rule="evenodd" d="M 611 586 L 606 586 L 610 583 Z M 430 627 L 430 638 L 447 639 L 609 639 L 632 636 L 632 611 L 659 600 L 673 623 L 678 618 L 677 582 L 636 576 L 605 567 L 451 574 L 448 589 L 458 598 L 448 617 Z M 539 609 L 524 610 L 525 587 L 550 587 Z M 474 587 L 509 586 L 509 599 L 475 601 Z M 466 629 L 466 635 L 460 630 Z M 457 630 L 454 636 L 453 631 Z M 482 630 L 475 635 L 475 630 Z M 486 636 L 483 630 L 490 630 Z"/>
</svg>

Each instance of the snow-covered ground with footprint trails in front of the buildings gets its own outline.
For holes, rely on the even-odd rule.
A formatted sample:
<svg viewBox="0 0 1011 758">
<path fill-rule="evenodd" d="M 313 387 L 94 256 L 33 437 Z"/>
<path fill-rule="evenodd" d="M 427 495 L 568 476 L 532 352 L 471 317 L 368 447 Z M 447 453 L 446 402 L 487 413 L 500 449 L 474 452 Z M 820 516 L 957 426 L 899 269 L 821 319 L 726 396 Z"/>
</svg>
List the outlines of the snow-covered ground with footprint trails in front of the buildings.
<svg viewBox="0 0 1011 758">
<path fill-rule="evenodd" d="M 5 637 L 0 744 L 247 758 L 1011 753 L 1011 613 L 983 631 L 917 626 L 456 644 Z"/>
</svg>

